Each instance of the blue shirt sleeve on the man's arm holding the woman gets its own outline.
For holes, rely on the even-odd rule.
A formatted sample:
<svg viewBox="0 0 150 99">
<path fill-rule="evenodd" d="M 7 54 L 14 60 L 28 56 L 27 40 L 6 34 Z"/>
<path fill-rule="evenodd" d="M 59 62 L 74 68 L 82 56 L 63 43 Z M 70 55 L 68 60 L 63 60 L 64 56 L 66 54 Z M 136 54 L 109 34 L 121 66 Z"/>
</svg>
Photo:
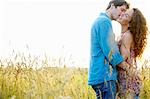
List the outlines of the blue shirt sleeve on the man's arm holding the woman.
<svg viewBox="0 0 150 99">
<path fill-rule="evenodd" d="M 106 60 L 113 67 L 120 64 L 124 59 L 119 52 L 115 35 L 112 31 L 112 25 L 108 21 L 103 21 L 99 24 L 99 32 L 97 32 L 97 39 L 102 49 Z"/>
</svg>

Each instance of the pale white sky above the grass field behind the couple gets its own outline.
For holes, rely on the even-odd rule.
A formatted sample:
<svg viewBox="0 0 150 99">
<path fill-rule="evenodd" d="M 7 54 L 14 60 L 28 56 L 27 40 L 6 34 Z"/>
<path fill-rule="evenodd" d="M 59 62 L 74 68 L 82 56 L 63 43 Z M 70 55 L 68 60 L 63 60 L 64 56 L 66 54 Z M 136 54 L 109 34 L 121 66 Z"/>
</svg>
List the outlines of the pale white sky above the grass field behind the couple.
<svg viewBox="0 0 150 99">
<path fill-rule="evenodd" d="M 129 0 L 128 0 L 129 1 Z M 0 57 L 12 49 L 33 55 L 72 57 L 88 67 L 90 29 L 109 0 L 0 0 Z M 148 19 L 149 1 L 133 0 Z M 118 27 L 114 27 L 118 32 Z M 29 49 L 27 49 L 27 46 Z"/>
</svg>

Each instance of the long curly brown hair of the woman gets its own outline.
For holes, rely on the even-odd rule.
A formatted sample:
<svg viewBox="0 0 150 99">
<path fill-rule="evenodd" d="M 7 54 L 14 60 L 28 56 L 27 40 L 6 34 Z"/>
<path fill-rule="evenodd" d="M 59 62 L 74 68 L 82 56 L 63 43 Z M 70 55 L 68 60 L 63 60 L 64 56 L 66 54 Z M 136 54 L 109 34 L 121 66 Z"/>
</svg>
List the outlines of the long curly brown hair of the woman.
<svg viewBox="0 0 150 99">
<path fill-rule="evenodd" d="M 148 28 L 146 19 L 137 8 L 133 8 L 133 16 L 129 22 L 129 30 L 133 35 L 135 57 L 141 57 L 147 44 Z"/>
</svg>

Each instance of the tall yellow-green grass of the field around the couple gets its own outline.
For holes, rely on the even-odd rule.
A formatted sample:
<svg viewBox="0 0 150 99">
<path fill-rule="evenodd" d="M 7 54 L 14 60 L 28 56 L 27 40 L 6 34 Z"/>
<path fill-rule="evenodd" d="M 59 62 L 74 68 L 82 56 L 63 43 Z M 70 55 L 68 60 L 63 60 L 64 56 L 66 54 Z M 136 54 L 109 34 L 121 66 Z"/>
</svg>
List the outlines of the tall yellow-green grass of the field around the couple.
<svg viewBox="0 0 150 99">
<path fill-rule="evenodd" d="M 94 91 L 87 85 L 86 68 L 67 67 L 62 62 L 64 59 L 54 60 L 51 66 L 47 57 L 40 60 L 38 57 L 19 54 L 1 59 L 0 99 L 95 99 Z M 59 67 L 59 64 L 63 66 Z M 141 74 L 141 99 L 149 99 L 148 62 L 143 66 Z"/>
</svg>

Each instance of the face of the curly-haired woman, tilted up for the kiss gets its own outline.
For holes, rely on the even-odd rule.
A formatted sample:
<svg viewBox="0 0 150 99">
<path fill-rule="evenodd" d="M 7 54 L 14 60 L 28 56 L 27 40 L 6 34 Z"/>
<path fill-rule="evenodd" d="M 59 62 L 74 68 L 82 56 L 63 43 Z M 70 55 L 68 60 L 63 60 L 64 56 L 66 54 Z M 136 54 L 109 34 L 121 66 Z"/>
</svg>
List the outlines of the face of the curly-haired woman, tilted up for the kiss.
<svg viewBox="0 0 150 99">
<path fill-rule="evenodd" d="M 131 21 L 132 15 L 133 15 L 133 9 L 131 10 L 127 10 L 125 13 L 122 13 L 119 18 L 117 19 L 117 21 L 121 24 L 121 25 L 128 25 L 129 22 Z"/>
</svg>

